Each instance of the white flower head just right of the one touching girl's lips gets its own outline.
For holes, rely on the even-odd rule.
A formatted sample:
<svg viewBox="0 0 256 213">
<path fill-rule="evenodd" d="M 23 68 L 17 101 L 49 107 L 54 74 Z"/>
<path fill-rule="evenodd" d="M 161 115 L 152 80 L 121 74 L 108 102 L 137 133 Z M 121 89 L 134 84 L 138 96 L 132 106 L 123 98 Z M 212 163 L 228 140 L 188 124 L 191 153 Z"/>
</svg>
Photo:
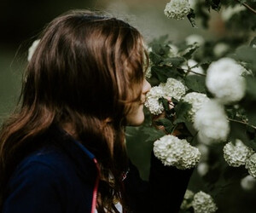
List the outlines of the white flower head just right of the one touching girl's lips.
<svg viewBox="0 0 256 213">
<path fill-rule="evenodd" d="M 186 88 L 180 81 L 174 78 L 168 78 L 166 83 L 160 83 L 163 87 L 166 97 L 175 98 L 179 101 L 186 93 Z"/>
</svg>

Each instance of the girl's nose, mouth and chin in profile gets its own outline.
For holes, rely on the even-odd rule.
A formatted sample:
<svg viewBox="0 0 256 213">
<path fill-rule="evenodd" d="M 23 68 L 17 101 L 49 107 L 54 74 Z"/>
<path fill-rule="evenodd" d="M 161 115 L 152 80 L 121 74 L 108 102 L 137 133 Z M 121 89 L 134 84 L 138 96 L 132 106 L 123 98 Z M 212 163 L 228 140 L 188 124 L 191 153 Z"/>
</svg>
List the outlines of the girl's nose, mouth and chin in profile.
<svg viewBox="0 0 256 213">
<path fill-rule="evenodd" d="M 146 79 L 144 79 L 141 101 L 134 102 L 131 106 L 131 111 L 126 116 L 126 121 L 128 125 L 137 126 L 137 125 L 143 124 L 143 121 L 144 121 L 143 106 L 146 100 L 146 95 L 150 89 L 151 89 L 151 85 L 148 83 Z"/>
</svg>

